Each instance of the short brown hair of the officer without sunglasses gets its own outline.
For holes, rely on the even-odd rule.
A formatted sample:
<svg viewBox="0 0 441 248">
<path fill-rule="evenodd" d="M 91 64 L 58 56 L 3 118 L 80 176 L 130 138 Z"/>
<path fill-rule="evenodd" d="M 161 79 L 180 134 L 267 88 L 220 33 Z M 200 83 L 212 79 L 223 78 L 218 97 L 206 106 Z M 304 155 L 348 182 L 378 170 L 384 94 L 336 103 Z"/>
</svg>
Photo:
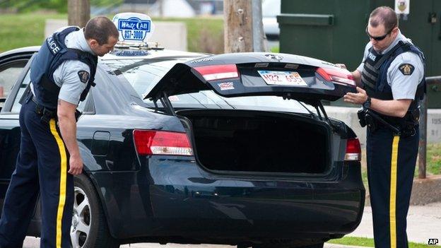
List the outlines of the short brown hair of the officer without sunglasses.
<svg viewBox="0 0 441 248">
<path fill-rule="evenodd" d="M 109 37 L 118 39 L 119 32 L 112 20 L 105 16 L 97 16 L 88 21 L 84 28 L 84 37 L 86 40 L 94 39 L 99 45 L 104 45 Z"/>
</svg>

